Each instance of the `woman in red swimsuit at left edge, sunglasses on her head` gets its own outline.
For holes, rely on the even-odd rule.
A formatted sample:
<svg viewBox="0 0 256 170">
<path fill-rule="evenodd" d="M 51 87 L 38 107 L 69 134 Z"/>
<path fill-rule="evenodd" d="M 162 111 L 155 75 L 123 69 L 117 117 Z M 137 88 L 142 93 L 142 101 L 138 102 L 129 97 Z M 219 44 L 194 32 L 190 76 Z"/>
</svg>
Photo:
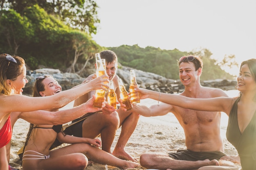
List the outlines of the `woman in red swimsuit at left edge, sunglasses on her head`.
<svg viewBox="0 0 256 170">
<path fill-rule="evenodd" d="M 0 54 L 0 170 L 8 169 L 6 145 L 10 142 L 12 134 L 11 112 L 60 108 L 94 89 L 106 90 L 105 81 L 108 79 L 103 75 L 54 96 L 45 98 L 22 96 L 22 88 L 28 82 L 24 59 L 9 54 Z"/>
</svg>

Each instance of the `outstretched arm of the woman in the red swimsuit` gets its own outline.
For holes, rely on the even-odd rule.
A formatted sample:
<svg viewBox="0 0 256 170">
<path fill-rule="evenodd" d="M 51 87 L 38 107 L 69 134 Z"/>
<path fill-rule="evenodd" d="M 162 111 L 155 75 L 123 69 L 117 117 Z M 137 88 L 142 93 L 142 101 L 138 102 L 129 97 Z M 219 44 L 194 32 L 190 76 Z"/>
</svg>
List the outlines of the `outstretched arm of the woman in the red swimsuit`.
<svg viewBox="0 0 256 170">
<path fill-rule="evenodd" d="M 22 95 L 4 96 L 1 98 L 0 107 L 2 112 L 13 111 L 35 111 L 49 108 L 59 108 L 78 98 L 79 96 L 94 89 L 106 90 L 108 85 L 104 82 L 109 81 L 106 75 L 94 78 L 88 83 L 84 83 L 76 88 L 65 90 L 58 94 L 46 97 L 29 97 Z"/>
</svg>

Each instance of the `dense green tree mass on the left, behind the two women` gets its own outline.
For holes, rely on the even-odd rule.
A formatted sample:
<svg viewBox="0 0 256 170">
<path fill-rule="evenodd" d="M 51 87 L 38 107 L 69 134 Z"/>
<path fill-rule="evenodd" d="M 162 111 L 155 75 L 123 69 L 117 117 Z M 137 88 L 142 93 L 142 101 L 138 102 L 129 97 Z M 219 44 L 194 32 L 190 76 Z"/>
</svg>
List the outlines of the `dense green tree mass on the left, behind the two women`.
<svg viewBox="0 0 256 170">
<path fill-rule="evenodd" d="M 45 65 L 63 70 L 101 50 L 89 34 L 66 26 L 38 5 L 23 15 L 3 10 L 0 24 L 0 51 L 25 58 L 31 69 Z"/>
</svg>

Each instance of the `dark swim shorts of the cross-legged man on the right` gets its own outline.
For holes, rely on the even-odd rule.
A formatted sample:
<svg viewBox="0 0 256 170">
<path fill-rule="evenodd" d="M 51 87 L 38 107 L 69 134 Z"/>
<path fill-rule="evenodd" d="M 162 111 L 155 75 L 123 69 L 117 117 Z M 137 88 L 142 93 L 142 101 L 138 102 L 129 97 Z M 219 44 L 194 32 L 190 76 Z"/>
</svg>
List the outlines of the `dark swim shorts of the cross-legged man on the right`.
<svg viewBox="0 0 256 170">
<path fill-rule="evenodd" d="M 219 160 L 221 157 L 226 156 L 225 153 L 220 151 L 214 151 L 214 152 L 194 152 L 191 150 L 177 150 L 175 153 L 168 153 L 170 157 L 177 160 L 184 160 L 184 161 L 198 161 L 198 160 L 213 160 L 217 159 Z"/>
</svg>

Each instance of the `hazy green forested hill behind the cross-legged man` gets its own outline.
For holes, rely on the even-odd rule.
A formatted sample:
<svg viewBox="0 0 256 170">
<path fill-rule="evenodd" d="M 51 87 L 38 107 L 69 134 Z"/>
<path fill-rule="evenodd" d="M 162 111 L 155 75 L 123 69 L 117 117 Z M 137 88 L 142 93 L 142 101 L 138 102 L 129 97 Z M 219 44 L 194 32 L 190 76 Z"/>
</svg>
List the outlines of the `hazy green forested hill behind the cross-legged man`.
<svg viewBox="0 0 256 170">
<path fill-rule="evenodd" d="M 161 50 L 155 47 L 140 48 L 137 45 L 110 47 L 117 56 L 119 63 L 122 65 L 136 68 L 145 72 L 153 72 L 166 78 L 179 79 L 179 70 L 177 61 L 180 57 L 187 55 L 187 52 L 174 50 Z M 227 78 L 232 79 L 233 76 L 220 68 L 215 59 L 211 59 L 212 53 L 207 49 L 198 52 L 191 52 L 202 57 L 203 74 L 201 80 Z"/>
</svg>

